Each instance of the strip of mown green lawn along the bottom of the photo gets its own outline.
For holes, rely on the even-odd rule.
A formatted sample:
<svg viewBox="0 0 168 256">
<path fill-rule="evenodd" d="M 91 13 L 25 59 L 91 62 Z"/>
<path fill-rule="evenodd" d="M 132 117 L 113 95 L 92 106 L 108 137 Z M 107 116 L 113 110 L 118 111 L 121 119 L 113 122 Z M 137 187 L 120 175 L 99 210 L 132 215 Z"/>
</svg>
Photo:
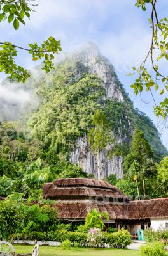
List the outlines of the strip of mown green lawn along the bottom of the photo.
<svg viewBox="0 0 168 256">
<path fill-rule="evenodd" d="M 17 253 L 31 253 L 33 246 L 15 245 Z M 57 246 L 40 246 L 40 256 L 140 256 L 137 250 L 77 248 L 62 250 Z"/>
</svg>

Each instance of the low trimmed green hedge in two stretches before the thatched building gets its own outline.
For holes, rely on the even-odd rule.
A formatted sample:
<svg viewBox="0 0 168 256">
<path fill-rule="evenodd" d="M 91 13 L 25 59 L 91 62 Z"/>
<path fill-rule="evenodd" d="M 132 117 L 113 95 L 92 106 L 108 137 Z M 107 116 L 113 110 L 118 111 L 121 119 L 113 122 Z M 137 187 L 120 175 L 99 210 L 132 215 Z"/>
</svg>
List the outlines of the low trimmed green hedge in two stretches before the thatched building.
<svg viewBox="0 0 168 256">
<path fill-rule="evenodd" d="M 70 240 L 72 243 L 87 243 L 87 233 L 57 230 L 55 232 L 29 232 L 29 234 L 15 234 L 13 240 L 41 240 L 62 242 Z M 118 230 L 115 233 L 103 232 L 103 243 L 109 244 L 111 248 L 126 248 L 131 243 L 131 236 L 127 230 Z"/>
</svg>

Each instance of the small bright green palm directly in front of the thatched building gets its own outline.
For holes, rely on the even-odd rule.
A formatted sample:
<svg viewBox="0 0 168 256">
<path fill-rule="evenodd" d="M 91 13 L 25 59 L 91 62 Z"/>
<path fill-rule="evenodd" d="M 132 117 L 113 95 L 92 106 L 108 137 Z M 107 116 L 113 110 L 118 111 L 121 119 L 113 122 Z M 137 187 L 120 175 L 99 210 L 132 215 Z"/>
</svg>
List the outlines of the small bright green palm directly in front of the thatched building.
<svg viewBox="0 0 168 256">
<path fill-rule="evenodd" d="M 97 209 L 92 209 L 85 219 L 85 226 L 88 228 L 100 228 L 105 227 L 103 219 L 109 220 L 107 212 L 99 212 Z"/>
</svg>

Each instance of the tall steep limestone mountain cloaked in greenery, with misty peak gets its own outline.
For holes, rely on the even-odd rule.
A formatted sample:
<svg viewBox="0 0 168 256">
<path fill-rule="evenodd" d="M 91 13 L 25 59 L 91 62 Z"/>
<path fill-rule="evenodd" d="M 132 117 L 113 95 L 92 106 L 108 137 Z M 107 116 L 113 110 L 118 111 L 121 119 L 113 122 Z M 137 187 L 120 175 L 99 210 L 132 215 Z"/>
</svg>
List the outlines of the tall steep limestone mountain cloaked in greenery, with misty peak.
<svg viewBox="0 0 168 256">
<path fill-rule="evenodd" d="M 37 68 L 34 74 L 38 73 Z M 122 177 L 123 155 L 128 152 L 136 128 L 144 132 L 155 152 L 155 159 L 160 160 L 167 154 L 157 128 L 148 116 L 134 108 L 116 76 L 115 68 L 95 44 L 88 43 L 69 54 L 52 72 L 31 77 L 27 86 L 32 92 L 38 92 L 38 106 L 31 116 L 24 116 L 27 122 L 24 129 L 29 127 L 26 140 L 38 140 L 39 149 L 43 148 L 47 158 L 44 157 L 45 163 L 50 164 L 53 159 L 53 165 L 63 163 L 61 171 L 64 163 L 70 161 L 97 177 L 96 157 L 87 138 L 97 109 L 106 113 L 115 143 L 123 147 L 122 156 L 109 158 L 107 150 L 99 153 L 101 179 L 111 174 Z"/>
</svg>

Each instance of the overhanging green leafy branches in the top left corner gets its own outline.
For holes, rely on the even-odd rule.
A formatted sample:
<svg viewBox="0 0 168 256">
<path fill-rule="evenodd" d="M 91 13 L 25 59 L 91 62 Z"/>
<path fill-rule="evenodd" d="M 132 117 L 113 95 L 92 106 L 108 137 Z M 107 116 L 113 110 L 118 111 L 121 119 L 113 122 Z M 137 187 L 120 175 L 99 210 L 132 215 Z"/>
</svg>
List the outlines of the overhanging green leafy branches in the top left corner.
<svg viewBox="0 0 168 256">
<path fill-rule="evenodd" d="M 2 20 L 8 20 L 8 22 L 13 22 L 13 27 L 17 30 L 20 26 L 20 22 L 25 24 L 24 17 L 27 16 L 30 18 L 31 8 L 30 5 L 34 0 L 8 0 L 0 1 L 0 22 Z M 33 5 L 33 4 L 32 4 Z M 52 36 L 45 40 L 41 46 L 35 42 L 34 44 L 29 44 L 29 48 L 20 47 L 13 45 L 11 42 L 0 42 L 0 72 L 5 72 L 10 74 L 10 79 L 15 81 L 25 81 L 30 77 L 30 74 L 20 65 L 15 63 L 15 57 L 17 57 L 17 49 L 22 49 L 28 51 L 29 54 L 32 54 L 32 60 L 41 60 L 43 61 L 43 68 L 46 72 L 49 72 L 54 68 L 53 59 L 54 55 L 59 51 L 62 51 L 60 47 L 60 41 L 55 40 Z"/>
</svg>

